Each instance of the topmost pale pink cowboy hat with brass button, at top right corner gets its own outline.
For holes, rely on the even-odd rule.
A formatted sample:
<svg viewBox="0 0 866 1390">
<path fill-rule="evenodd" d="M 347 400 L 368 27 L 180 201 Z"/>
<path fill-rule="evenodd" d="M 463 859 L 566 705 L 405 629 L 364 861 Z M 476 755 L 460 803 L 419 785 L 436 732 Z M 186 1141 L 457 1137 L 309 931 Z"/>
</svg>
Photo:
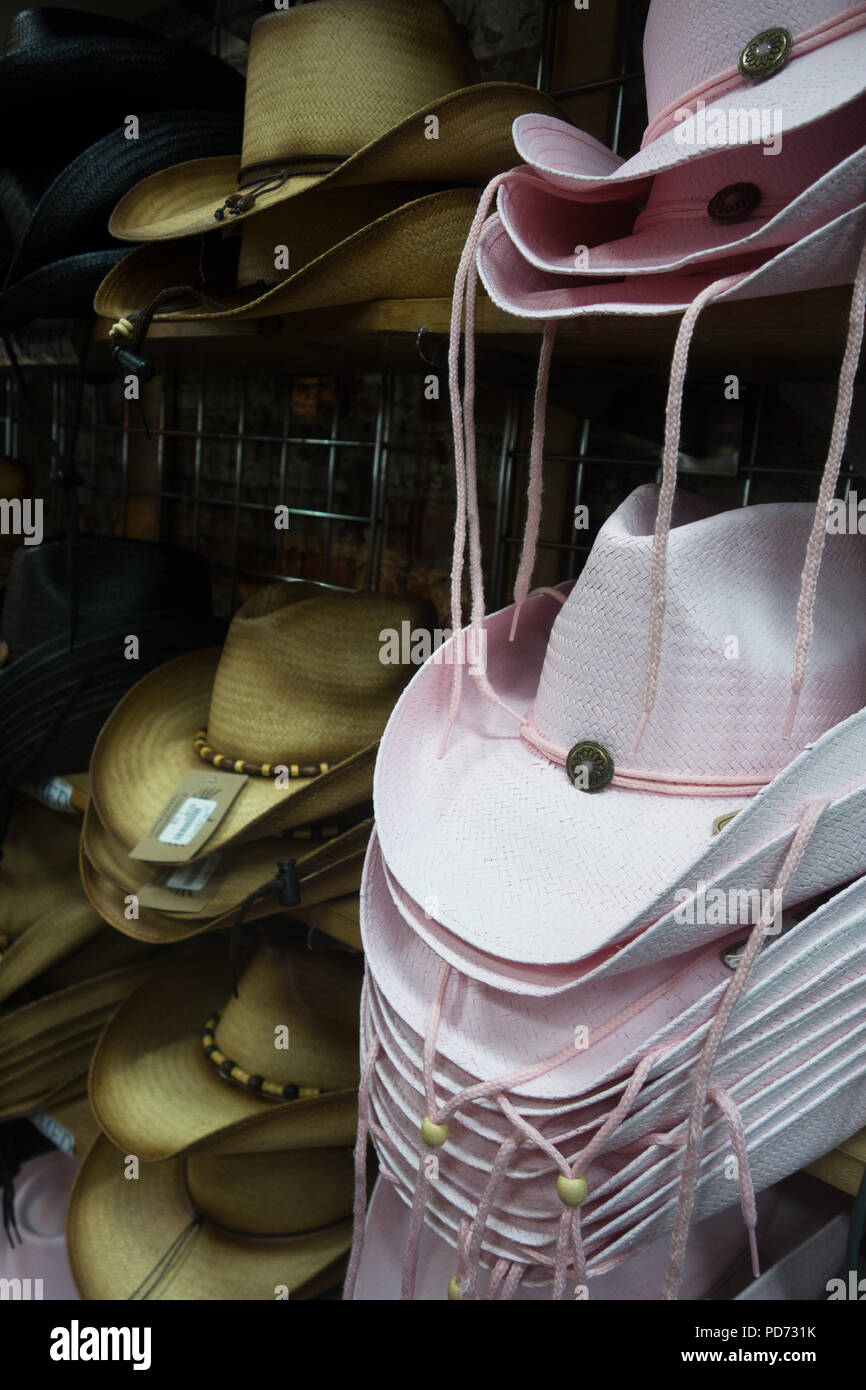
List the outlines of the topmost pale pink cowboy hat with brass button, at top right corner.
<svg viewBox="0 0 866 1390">
<path fill-rule="evenodd" d="M 740 76 L 745 44 L 778 25 L 794 38 L 783 67 L 759 82 Z M 866 4 L 788 0 L 780 13 L 776 0 L 653 0 L 644 67 L 649 125 L 632 158 L 619 160 L 592 136 L 541 114 L 514 122 L 520 157 L 559 188 L 623 196 L 664 170 L 748 143 L 742 110 L 766 111 L 770 120 L 778 113 L 785 135 L 802 129 L 866 89 Z M 694 139 L 687 142 L 689 117 Z"/>
</svg>

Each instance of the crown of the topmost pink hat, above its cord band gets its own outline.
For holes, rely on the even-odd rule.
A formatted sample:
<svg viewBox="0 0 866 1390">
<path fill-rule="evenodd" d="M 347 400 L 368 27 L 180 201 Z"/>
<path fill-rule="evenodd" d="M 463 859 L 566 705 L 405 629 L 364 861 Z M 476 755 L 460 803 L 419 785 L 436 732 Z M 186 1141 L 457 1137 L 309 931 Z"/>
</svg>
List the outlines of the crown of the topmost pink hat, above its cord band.
<svg viewBox="0 0 866 1390">
<path fill-rule="evenodd" d="M 853 8 L 840 0 L 653 0 L 644 31 L 644 70 L 649 124 L 695 88 L 737 68 L 746 43 L 765 29 L 784 28 L 796 39 L 817 24 Z M 771 78 L 770 78 L 771 82 Z M 748 95 L 752 88 L 742 81 Z M 752 93 L 753 96 L 753 93 Z M 760 99 L 773 100 L 771 86 L 762 85 Z"/>
</svg>

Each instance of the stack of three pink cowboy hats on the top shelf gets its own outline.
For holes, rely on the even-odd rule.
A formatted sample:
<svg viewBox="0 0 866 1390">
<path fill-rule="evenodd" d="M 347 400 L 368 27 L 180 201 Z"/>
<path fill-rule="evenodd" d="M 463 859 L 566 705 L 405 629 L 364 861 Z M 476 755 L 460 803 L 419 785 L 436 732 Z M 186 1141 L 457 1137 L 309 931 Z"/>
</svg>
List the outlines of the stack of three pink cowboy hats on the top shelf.
<svg viewBox="0 0 866 1390">
<path fill-rule="evenodd" d="M 516 120 L 525 163 L 495 181 L 478 249 L 491 297 L 562 318 L 671 313 L 720 278 L 720 302 L 849 284 L 866 6 L 653 0 L 644 60 L 649 124 L 630 160 L 556 117 Z"/>
</svg>

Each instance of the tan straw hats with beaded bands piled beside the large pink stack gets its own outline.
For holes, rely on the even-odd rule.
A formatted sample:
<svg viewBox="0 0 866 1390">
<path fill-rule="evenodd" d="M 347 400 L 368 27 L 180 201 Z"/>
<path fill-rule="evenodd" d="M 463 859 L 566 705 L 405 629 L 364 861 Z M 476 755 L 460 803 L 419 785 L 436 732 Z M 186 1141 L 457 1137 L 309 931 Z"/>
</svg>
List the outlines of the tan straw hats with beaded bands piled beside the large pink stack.
<svg viewBox="0 0 866 1390">
<path fill-rule="evenodd" d="M 101 1134 L 68 1222 L 85 1298 L 314 1298 L 339 1286 L 357 894 L 378 738 L 409 676 L 381 660 L 382 642 L 402 623 L 424 630 L 435 614 L 425 600 L 268 585 L 221 649 L 152 671 L 97 739 L 86 894 L 118 940 L 171 949 L 93 1058 Z M 232 798 L 186 847 L 165 834 L 183 778 L 195 785 L 181 821 L 190 802 L 215 806 L 209 788 Z M 181 856 L 157 862 L 160 845 Z"/>
</svg>

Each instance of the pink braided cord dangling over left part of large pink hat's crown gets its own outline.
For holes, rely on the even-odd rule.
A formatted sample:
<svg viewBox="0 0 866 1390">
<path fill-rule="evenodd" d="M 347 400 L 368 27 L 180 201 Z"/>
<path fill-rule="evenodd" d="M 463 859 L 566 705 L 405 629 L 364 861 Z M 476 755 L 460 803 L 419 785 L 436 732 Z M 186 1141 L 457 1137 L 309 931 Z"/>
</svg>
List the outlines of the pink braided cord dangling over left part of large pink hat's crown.
<svg viewBox="0 0 866 1390">
<path fill-rule="evenodd" d="M 677 489 L 677 461 L 680 456 L 680 430 L 683 421 L 683 386 L 685 384 L 685 370 L 688 366 L 688 349 L 695 332 L 695 324 L 703 309 L 721 295 L 726 289 L 733 289 L 745 275 L 728 275 L 716 279 L 691 302 L 677 331 L 677 342 L 670 363 L 670 381 L 667 386 L 667 407 L 664 413 L 664 449 L 662 453 L 662 488 L 659 491 L 659 510 L 656 512 L 656 530 L 652 541 L 652 582 L 649 599 L 649 646 L 646 652 L 646 671 L 644 676 L 644 712 L 641 714 L 631 756 L 637 753 L 644 730 L 652 714 L 659 687 L 659 666 L 662 662 L 662 635 L 664 630 L 666 607 L 666 580 L 667 580 L 667 539 L 670 535 L 670 521 Z"/>
</svg>

